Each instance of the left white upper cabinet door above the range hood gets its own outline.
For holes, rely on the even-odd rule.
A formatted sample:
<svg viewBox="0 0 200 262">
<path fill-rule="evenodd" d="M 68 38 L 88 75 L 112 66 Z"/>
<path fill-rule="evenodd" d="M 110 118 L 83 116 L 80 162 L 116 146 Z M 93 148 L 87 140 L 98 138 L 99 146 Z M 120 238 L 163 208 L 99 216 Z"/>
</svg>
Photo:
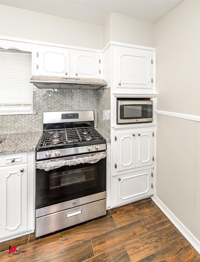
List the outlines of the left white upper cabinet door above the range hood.
<svg viewBox="0 0 200 262">
<path fill-rule="evenodd" d="M 69 76 L 69 50 L 37 46 L 34 56 L 34 75 Z"/>
</svg>

